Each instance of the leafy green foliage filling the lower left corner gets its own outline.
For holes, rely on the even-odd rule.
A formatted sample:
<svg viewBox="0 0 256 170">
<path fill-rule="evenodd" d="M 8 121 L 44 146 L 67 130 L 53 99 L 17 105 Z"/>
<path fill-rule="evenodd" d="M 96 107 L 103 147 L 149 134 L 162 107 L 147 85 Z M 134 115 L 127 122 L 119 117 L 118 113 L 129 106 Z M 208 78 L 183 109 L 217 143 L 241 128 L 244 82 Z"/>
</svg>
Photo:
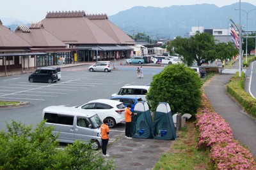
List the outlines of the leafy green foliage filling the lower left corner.
<svg viewBox="0 0 256 170">
<path fill-rule="evenodd" d="M 76 141 L 58 150 L 54 127 L 44 124 L 34 131 L 20 122 L 6 124 L 7 132 L 0 132 L 0 169 L 115 169 L 112 161 L 95 155 L 90 143 Z"/>
</svg>

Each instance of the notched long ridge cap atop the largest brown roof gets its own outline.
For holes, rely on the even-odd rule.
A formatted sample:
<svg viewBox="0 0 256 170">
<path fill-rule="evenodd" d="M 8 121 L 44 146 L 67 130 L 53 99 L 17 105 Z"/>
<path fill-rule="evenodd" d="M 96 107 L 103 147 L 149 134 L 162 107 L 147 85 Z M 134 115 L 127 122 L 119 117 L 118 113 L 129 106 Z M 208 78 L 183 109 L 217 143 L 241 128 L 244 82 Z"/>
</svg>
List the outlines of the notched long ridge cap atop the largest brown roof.
<svg viewBox="0 0 256 170">
<path fill-rule="evenodd" d="M 84 11 L 49 11 L 45 18 L 70 18 L 70 17 L 84 17 Z"/>
</svg>

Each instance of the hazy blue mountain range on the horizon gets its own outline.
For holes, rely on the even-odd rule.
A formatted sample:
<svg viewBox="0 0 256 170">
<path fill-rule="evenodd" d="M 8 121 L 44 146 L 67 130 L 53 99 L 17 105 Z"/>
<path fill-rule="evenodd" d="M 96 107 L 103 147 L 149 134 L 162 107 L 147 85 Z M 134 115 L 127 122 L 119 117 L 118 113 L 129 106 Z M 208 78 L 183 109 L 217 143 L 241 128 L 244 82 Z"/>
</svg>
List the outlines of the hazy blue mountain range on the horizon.
<svg viewBox="0 0 256 170">
<path fill-rule="evenodd" d="M 214 4 L 175 5 L 165 8 L 135 6 L 110 15 L 108 19 L 131 36 L 144 32 L 151 39 L 173 39 L 176 36 L 188 37 L 191 27 L 228 29 L 228 24 L 231 24 L 230 18 L 239 24 L 237 9 L 239 3 L 223 7 Z M 241 3 L 241 25 L 244 25 L 244 29 L 247 24 L 246 13 L 248 13 L 248 30 L 255 30 L 256 6 Z M 1 18 L 1 20 L 12 31 L 19 24 L 28 24 L 17 18 Z"/>
</svg>

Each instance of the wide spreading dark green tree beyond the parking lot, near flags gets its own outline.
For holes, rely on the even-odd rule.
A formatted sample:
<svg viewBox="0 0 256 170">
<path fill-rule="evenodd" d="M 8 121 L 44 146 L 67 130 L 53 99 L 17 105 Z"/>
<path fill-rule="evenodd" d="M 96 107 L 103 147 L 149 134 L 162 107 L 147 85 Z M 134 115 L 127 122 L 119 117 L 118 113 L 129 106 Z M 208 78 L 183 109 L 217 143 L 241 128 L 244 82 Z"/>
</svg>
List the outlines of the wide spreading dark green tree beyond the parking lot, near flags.
<svg viewBox="0 0 256 170">
<path fill-rule="evenodd" d="M 232 59 L 239 53 L 239 50 L 232 43 L 218 43 L 214 36 L 207 32 L 197 32 L 195 37 L 191 38 L 177 37 L 167 46 L 169 51 L 173 48 L 176 53 L 182 55 L 183 62 L 188 66 L 191 66 L 194 61 L 200 66 L 202 61 L 207 63 L 214 62 L 216 59 Z M 226 48 L 230 52 L 227 52 Z"/>
</svg>

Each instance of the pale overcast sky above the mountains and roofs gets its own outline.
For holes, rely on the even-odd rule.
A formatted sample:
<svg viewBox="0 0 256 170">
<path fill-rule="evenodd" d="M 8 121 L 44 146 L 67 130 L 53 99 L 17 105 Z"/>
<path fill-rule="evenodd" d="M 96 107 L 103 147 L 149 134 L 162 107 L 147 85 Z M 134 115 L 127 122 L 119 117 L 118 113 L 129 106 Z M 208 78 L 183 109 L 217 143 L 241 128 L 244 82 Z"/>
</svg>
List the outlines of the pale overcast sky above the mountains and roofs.
<svg viewBox="0 0 256 170">
<path fill-rule="evenodd" d="M 255 0 L 241 1 L 256 6 Z M 133 6 L 154 6 L 163 8 L 173 5 L 216 4 L 221 7 L 238 0 L 1 0 L 0 18 L 17 18 L 38 22 L 45 18 L 47 11 L 79 11 L 88 14 L 106 13 L 108 16 Z M 242 7 L 243 8 L 243 7 Z"/>
</svg>

